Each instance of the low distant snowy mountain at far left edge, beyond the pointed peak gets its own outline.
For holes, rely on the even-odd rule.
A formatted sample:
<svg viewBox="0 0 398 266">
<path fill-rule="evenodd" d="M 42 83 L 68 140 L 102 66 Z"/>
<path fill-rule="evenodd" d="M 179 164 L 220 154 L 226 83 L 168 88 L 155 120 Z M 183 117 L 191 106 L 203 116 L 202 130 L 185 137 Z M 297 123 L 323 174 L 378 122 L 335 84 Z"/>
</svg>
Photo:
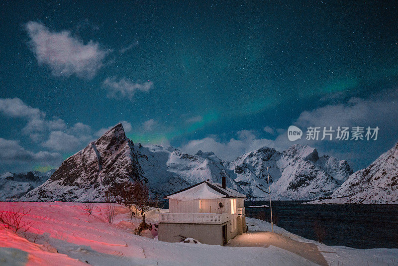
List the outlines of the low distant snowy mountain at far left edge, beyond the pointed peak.
<svg viewBox="0 0 398 266">
<path fill-rule="evenodd" d="M 54 173 L 54 169 L 45 173 L 30 171 L 25 173 L 6 172 L 0 175 L 0 200 L 12 200 L 25 195 L 40 186 Z"/>
</svg>

